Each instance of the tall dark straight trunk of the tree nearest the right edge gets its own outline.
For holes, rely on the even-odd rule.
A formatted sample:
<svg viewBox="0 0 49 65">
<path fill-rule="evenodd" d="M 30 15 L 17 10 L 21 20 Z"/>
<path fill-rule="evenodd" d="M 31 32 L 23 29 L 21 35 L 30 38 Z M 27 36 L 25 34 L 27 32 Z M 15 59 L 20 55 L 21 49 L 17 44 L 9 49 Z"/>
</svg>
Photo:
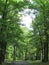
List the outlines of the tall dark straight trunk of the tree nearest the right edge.
<svg viewBox="0 0 49 65">
<path fill-rule="evenodd" d="M 44 42 L 44 62 L 48 61 L 48 34 L 47 34 L 47 17 L 46 11 L 43 9 L 43 22 L 44 22 L 44 35 L 45 35 L 45 42 Z"/>
</svg>

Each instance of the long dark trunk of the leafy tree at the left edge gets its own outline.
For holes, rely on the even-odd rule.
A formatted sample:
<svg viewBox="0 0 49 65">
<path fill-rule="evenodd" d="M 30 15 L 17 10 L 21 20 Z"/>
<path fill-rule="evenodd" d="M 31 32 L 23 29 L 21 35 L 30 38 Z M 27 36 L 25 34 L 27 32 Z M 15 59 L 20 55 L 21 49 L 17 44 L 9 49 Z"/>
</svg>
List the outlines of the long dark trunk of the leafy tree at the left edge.
<svg viewBox="0 0 49 65">
<path fill-rule="evenodd" d="M 7 15 L 7 1 L 5 2 L 5 6 L 4 6 L 4 11 L 3 11 L 3 15 L 2 15 L 2 28 L 1 28 L 1 35 L 3 33 L 3 30 L 5 28 L 5 21 L 6 21 L 6 15 Z M 7 42 L 3 39 L 3 36 L 1 37 L 1 41 L 0 41 L 0 64 L 2 64 L 2 62 L 4 62 L 5 59 L 5 53 L 6 53 L 6 45 Z"/>
</svg>

